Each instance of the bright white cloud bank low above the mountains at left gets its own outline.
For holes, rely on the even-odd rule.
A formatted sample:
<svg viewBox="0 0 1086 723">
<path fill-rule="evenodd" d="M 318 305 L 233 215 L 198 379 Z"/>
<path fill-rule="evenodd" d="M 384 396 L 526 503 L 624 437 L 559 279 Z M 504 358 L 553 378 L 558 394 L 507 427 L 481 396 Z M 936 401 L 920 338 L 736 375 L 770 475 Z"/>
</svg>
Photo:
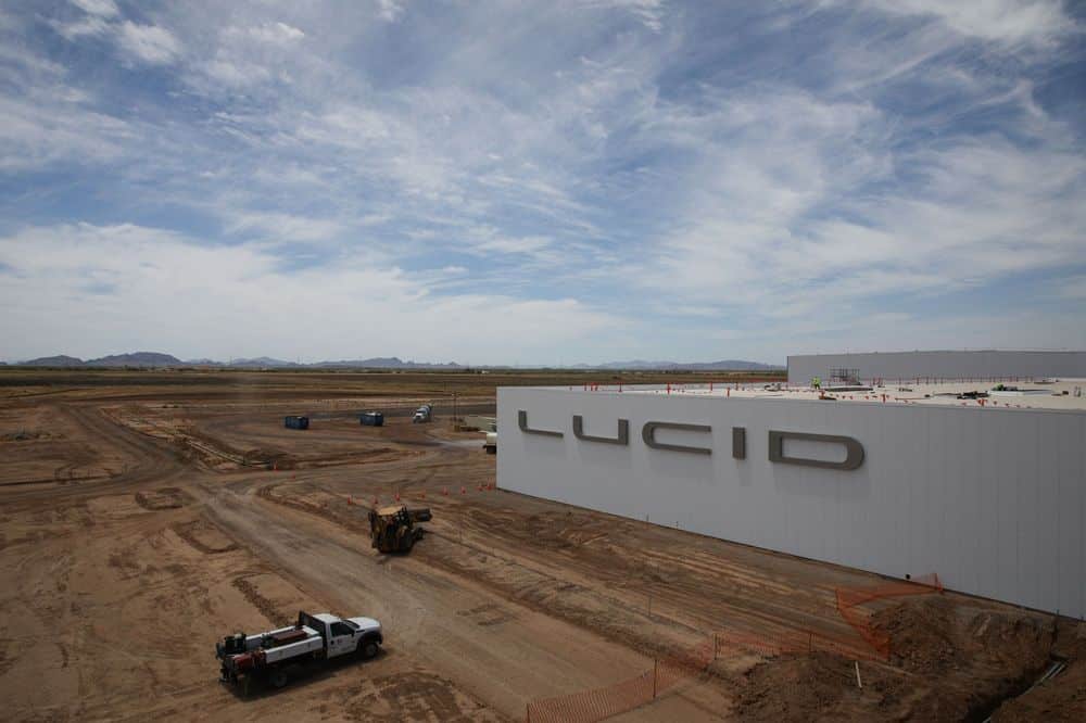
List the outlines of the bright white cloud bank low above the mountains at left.
<svg viewBox="0 0 1086 723">
<path fill-rule="evenodd" d="M 60 344 L 83 356 L 148 347 L 512 363 L 510 350 L 548 358 L 555 345 L 622 327 L 570 299 L 430 293 L 428 280 L 445 271 L 353 261 L 290 271 L 260 246 L 212 248 L 131 225 L 25 229 L 0 239 L 0 333 L 20 340 L 9 352 L 23 357 Z"/>
</svg>

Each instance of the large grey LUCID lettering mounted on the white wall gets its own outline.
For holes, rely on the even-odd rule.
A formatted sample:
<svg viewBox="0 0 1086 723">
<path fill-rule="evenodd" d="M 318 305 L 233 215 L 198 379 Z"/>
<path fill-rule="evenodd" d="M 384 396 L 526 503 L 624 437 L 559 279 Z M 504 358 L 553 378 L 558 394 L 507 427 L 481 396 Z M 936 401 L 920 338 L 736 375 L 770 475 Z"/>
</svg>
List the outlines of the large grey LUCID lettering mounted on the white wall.
<svg viewBox="0 0 1086 723">
<path fill-rule="evenodd" d="M 517 410 L 517 426 L 525 434 L 538 434 L 540 436 L 563 437 L 565 433 L 558 430 L 533 429 L 528 424 L 528 413 L 523 409 Z M 712 427 L 709 424 L 690 424 L 684 422 L 646 421 L 641 428 L 641 439 L 645 446 L 653 449 L 665 449 L 669 452 L 682 452 L 694 455 L 711 455 L 711 446 L 696 446 L 687 444 L 672 444 L 659 442 L 656 439 L 657 430 L 673 430 L 678 432 L 691 432 L 695 434 L 708 434 L 711 440 Z M 584 433 L 584 418 L 581 415 L 573 415 L 573 436 L 581 442 L 595 442 L 598 444 L 615 444 L 629 446 L 630 444 L 630 420 L 619 419 L 615 429 L 615 436 L 596 436 Z M 795 457 L 785 453 L 784 443 L 788 440 L 796 442 L 817 442 L 825 444 L 841 445 L 845 451 L 845 459 L 842 461 L 829 461 L 825 459 L 811 459 L 809 457 Z M 732 457 L 735 459 L 746 459 L 746 428 L 732 428 Z M 850 436 L 839 434 L 811 434 L 809 432 L 785 432 L 781 430 L 769 430 L 769 461 L 782 465 L 800 465 L 803 467 L 819 467 L 822 469 L 857 469 L 863 464 L 863 445 Z"/>
</svg>

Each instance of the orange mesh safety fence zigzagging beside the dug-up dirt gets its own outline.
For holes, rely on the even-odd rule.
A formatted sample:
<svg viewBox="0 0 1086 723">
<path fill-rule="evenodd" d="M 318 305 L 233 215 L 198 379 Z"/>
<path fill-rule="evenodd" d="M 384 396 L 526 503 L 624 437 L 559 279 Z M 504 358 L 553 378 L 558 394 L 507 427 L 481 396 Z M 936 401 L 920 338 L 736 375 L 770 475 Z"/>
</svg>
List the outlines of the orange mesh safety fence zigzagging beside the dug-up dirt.
<svg viewBox="0 0 1086 723">
<path fill-rule="evenodd" d="M 772 634 L 724 630 L 690 648 L 653 661 L 653 669 L 613 685 L 554 698 L 533 700 L 527 706 L 529 722 L 593 723 L 652 702 L 661 694 L 700 675 L 727 650 L 746 650 L 767 657 L 785 654 L 832 652 L 853 660 L 888 660 L 889 637 L 876 631 L 867 613 L 857 609 L 867 602 L 892 597 L 942 592 L 937 574 L 911 582 L 892 582 L 874 587 L 838 587 L 837 611 L 859 634 L 857 639 L 831 637 L 810 630 L 782 630 Z"/>
</svg>

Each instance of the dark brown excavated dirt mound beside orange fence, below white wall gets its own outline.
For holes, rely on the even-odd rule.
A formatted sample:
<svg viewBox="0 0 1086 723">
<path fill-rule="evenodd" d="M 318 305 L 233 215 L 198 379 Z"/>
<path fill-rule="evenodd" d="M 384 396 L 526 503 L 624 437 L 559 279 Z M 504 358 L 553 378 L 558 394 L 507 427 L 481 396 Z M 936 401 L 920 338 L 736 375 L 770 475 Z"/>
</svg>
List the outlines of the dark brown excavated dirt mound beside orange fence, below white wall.
<svg viewBox="0 0 1086 723">
<path fill-rule="evenodd" d="M 1045 617 L 960 605 L 946 596 L 900 602 L 873 614 L 871 623 L 889 636 L 893 656 L 888 663 L 859 663 L 862 688 L 849 658 L 824 651 L 781 656 L 735 681 L 738 718 L 983 720 L 1033 684 L 1052 646 Z M 1076 694 L 1060 695 L 1063 706 Z"/>
</svg>

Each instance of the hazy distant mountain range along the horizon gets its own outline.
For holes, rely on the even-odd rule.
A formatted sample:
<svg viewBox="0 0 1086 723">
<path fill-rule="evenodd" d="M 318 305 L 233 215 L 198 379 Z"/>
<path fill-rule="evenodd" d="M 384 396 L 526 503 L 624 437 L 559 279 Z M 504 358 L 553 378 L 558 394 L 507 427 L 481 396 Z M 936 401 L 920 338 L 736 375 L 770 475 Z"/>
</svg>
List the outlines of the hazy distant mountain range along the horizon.
<svg viewBox="0 0 1086 723">
<path fill-rule="evenodd" d="M 132 352 L 130 354 L 114 354 L 97 359 L 79 359 L 74 356 L 59 354 L 56 356 L 43 356 L 27 362 L 17 362 L 13 366 L 23 367 L 51 367 L 51 368 L 164 368 L 164 367 L 222 367 L 237 369 L 463 369 L 464 365 L 449 362 L 447 364 L 432 364 L 427 362 L 404 362 L 395 356 L 375 356 L 368 359 L 342 359 L 339 362 L 316 362 L 314 364 L 301 364 L 298 362 L 286 362 L 268 356 L 258 356 L 252 359 L 230 359 L 229 362 L 216 362 L 214 359 L 188 359 L 181 360 L 171 354 L 157 352 Z M 483 365 L 485 366 L 485 365 Z M 495 369 L 509 369 L 513 367 L 494 366 Z M 759 364 L 758 362 L 744 362 L 742 359 L 727 359 L 723 362 L 644 362 L 634 359 L 632 362 L 609 362 L 607 364 L 578 364 L 571 367 L 554 367 L 565 369 L 606 369 L 606 370 L 644 370 L 644 371 L 772 371 L 784 367 L 771 364 Z"/>
</svg>

